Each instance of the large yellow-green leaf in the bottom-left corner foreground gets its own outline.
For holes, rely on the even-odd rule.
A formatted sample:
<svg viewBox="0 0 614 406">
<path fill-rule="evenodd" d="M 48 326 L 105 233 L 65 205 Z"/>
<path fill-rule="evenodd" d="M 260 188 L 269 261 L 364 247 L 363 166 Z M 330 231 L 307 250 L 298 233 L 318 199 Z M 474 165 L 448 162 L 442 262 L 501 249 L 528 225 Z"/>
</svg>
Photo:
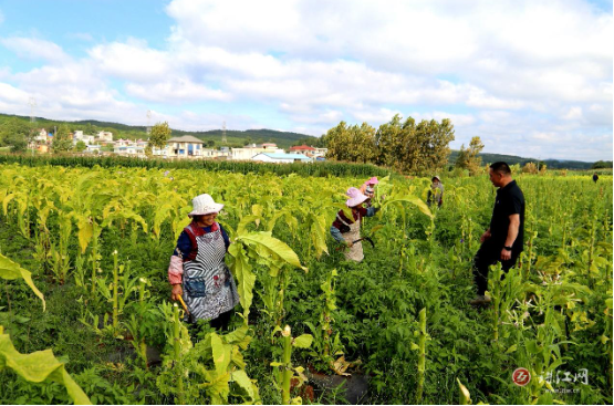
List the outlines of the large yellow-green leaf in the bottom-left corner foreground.
<svg viewBox="0 0 614 406">
<path fill-rule="evenodd" d="M 25 381 L 41 383 L 58 382 L 66 388 L 69 396 L 77 405 L 91 405 L 90 398 L 71 378 L 64 363 L 53 356 L 51 350 L 37 351 L 32 354 L 19 353 L 8 334 L 2 334 L 0 327 L 0 369 L 9 367 Z"/>
</svg>

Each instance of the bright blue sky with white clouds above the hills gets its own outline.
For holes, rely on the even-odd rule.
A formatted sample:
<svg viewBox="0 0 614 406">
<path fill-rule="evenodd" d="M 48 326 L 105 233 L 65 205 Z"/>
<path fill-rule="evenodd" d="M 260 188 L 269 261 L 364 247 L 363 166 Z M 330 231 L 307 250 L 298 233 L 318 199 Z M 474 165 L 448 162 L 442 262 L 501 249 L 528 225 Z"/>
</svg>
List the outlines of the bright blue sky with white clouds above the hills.
<svg viewBox="0 0 614 406">
<path fill-rule="evenodd" d="M 314 136 L 399 114 L 450 118 L 454 149 L 612 160 L 613 50 L 603 0 L 0 0 L 0 113 Z"/>
</svg>

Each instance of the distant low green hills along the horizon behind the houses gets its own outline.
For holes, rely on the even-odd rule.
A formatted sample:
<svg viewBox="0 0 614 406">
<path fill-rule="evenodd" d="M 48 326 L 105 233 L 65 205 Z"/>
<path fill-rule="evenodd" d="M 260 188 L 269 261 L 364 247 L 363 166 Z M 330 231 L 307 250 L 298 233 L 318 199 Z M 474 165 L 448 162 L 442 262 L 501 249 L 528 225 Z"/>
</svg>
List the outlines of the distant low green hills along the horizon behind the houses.
<svg viewBox="0 0 614 406">
<path fill-rule="evenodd" d="M 18 117 L 24 122 L 29 122 L 30 117 L 27 116 L 18 116 L 18 115 L 10 115 L 10 114 L 1 114 L 0 113 L 0 125 L 12 117 Z M 50 128 L 55 125 L 67 124 L 71 131 L 82 129 L 84 132 L 100 132 L 100 131 L 110 131 L 113 133 L 115 139 L 117 138 L 128 138 L 128 139 L 137 139 L 137 138 L 147 138 L 146 127 L 138 126 L 138 125 L 126 125 L 119 123 L 111 123 L 111 122 L 100 122 L 96 119 L 81 119 L 76 122 L 64 122 L 64 121 L 54 121 L 48 119 L 43 117 L 37 117 L 37 126 Z M 173 136 L 181 136 L 181 135 L 194 135 L 202 139 L 204 142 L 209 142 L 209 145 L 219 147 L 221 146 L 221 129 L 212 129 L 206 132 L 187 132 L 183 129 L 171 129 Z M 86 133 L 87 134 L 87 133 Z M 275 143 L 281 148 L 290 148 L 292 145 L 295 145 L 299 142 L 305 143 L 308 145 L 315 145 L 320 138 L 299 134 L 299 133 L 290 133 L 290 132 L 278 132 L 274 129 L 246 129 L 246 131 L 236 131 L 236 129 L 227 129 L 226 137 L 228 139 L 228 146 L 230 147 L 241 147 L 246 144 L 256 143 Z M 503 160 L 510 165 L 520 164 L 521 166 L 529 163 L 529 162 L 537 162 L 535 158 L 523 158 L 520 156 L 514 155 L 500 155 L 500 154 L 479 154 L 482 158 L 482 163 L 495 163 L 498 160 Z M 448 160 L 450 164 L 456 163 L 458 157 L 458 150 L 452 150 Z M 590 169 L 593 163 L 580 162 L 580 160 L 559 160 L 559 159 L 542 159 L 542 163 L 545 163 L 550 169 Z"/>
</svg>

